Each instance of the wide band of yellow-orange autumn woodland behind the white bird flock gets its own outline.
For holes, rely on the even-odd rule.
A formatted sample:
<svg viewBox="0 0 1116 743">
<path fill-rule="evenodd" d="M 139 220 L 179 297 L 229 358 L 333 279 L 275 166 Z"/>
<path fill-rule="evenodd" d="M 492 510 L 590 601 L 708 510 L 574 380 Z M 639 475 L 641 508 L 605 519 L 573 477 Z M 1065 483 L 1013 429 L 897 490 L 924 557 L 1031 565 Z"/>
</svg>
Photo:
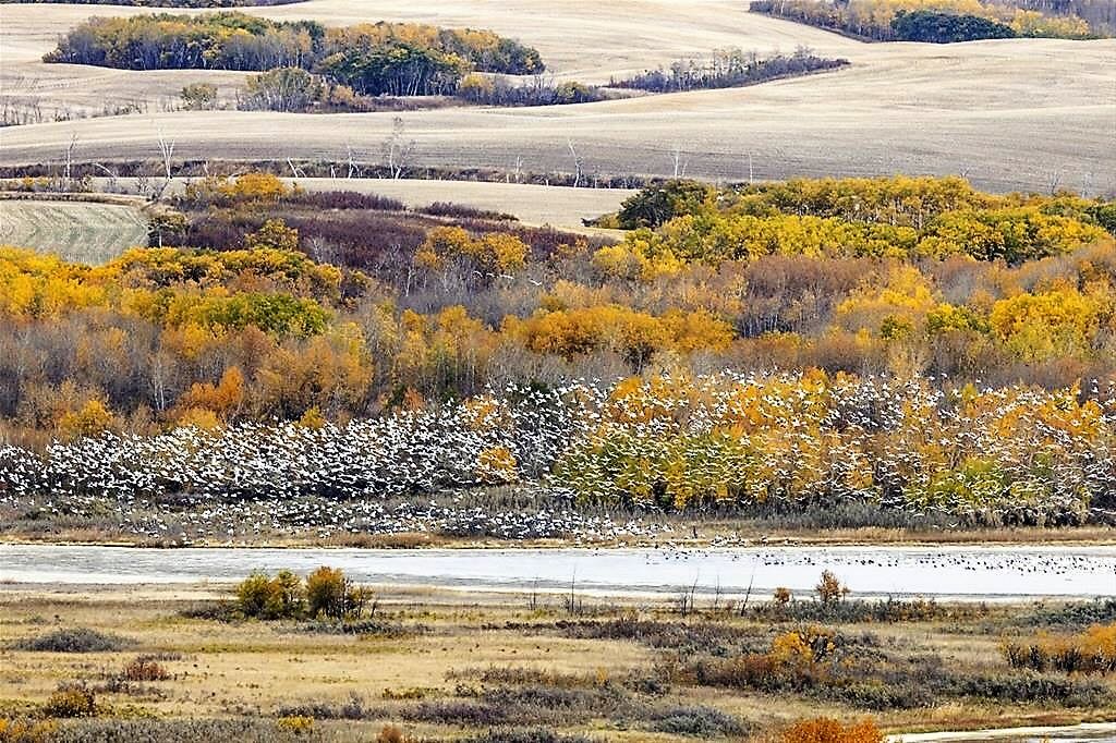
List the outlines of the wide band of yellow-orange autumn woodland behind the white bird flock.
<svg viewBox="0 0 1116 743">
<path fill-rule="evenodd" d="M 177 208 L 152 243 L 183 247 L 95 268 L 0 253 L 9 437 L 345 421 L 687 369 L 1116 379 L 1112 205 L 1070 194 L 672 183 L 625 204 L 626 223 L 657 226 L 618 242 L 266 174 L 196 181 Z"/>
</svg>

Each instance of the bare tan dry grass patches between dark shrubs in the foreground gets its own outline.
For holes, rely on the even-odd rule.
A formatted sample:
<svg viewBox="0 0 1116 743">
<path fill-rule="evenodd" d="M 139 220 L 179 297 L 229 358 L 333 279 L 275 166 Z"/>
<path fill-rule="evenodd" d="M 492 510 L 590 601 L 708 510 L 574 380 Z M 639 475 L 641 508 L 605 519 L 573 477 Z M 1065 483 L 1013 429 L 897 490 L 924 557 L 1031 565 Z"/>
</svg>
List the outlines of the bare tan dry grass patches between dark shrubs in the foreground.
<svg viewBox="0 0 1116 743">
<path fill-rule="evenodd" d="M 363 698 L 365 708 L 392 714 L 413 704 L 398 698 L 406 697 L 408 689 L 422 689 L 427 701 L 453 698 L 461 694 L 459 684 L 464 687 L 481 684 L 480 673 L 488 668 L 537 669 L 543 672 L 539 683 L 591 689 L 604 679 L 623 683 L 629 673 L 651 674 L 656 658 L 668 652 L 639 639 L 609 638 L 608 634 L 581 639 L 564 636 L 556 629 L 547 630 L 546 627 L 565 618 L 558 604 L 543 602 L 531 610 L 526 596 L 508 594 L 393 590 L 381 596 L 381 611 L 405 624 L 420 623 L 430 631 L 403 638 L 357 638 L 301 633 L 291 625 L 220 624 L 179 616 L 177 611 L 190 605 L 187 599 L 220 595 L 196 587 L 85 590 L 69 594 L 62 586 L 0 589 L 0 688 L 3 689 L 0 714 L 4 710 L 30 710 L 48 698 L 60 683 L 84 681 L 95 685 L 98 679 L 118 674 L 137 654 L 157 654 L 170 678 L 145 683 L 138 694 L 135 687 L 100 691 L 98 704 L 115 710 L 129 705 L 134 710 L 140 705 L 150 713 L 170 717 L 208 717 L 269 716 L 283 706 L 316 703 L 339 707 L 354 693 Z M 708 610 L 703 616 L 682 620 L 671 614 L 665 602 L 598 606 L 596 614 L 600 621 L 606 621 L 632 610 L 638 611 L 648 627 L 655 626 L 654 623 L 665 627 L 686 621 L 721 628 L 711 629 L 714 644 L 722 641 L 718 639 L 722 635 L 716 634 L 721 630 L 730 633 L 723 637 L 734 636 L 733 631 L 759 637 L 776 631 L 766 623 L 749 625 L 749 620 Z M 936 653 L 950 667 L 1000 673 L 1006 668 L 999 652 L 1001 634 L 1019 631 L 1012 624 L 1013 617 L 1027 610 L 994 607 L 984 619 L 964 627 L 958 620 L 844 625 L 840 631 L 847 637 L 872 633 L 879 647 L 901 653 Z M 13 641 L 64 626 L 85 626 L 127 636 L 135 644 L 124 652 L 80 656 L 12 649 Z M 548 678 L 557 681 L 547 684 Z M 494 679 L 484 685 L 500 683 Z M 385 695 L 385 691 L 394 695 Z M 666 707 L 705 705 L 766 728 L 817 714 L 837 717 L 865 714 L 821 698 L 687 683 L 673 684 L 665 696 L 645 698 L 644 703 Z M 931 708 L 889 711 L 877 716 L 889 730 L 941 730 L 1096 721 L 1114 711 L 949 701 Z M 357 727 L 364 725 L 366 734 L 369 730 L 374 734 L 379 724 L 381 721 L 366 721 Z M 407 727 L 423 735 L 449 732 L 445 725 L 432 723 Z M 586 720 L 568 732 L 593 733 L 607 741 L 675 740 L 650 734 L 637 726 L 625 727 L 618 728 L 605 720 Z"/>
</svg>

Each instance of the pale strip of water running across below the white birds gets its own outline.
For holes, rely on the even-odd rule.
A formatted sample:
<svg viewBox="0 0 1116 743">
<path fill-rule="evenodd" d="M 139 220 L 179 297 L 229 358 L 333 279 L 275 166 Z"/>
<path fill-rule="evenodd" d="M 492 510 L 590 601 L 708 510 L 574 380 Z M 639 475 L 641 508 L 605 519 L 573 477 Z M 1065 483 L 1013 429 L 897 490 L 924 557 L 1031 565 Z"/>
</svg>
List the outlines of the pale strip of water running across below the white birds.
<svg viewBox="0 0 1116 743">
<path fill-rule="evenodd" d="M 762 547 L 708 550 L 138 549 L 0 544 L 0 581 L 230 582 L 252 570 L 343 568 L 395 586 L 725 596 L 812 591 L 834 571 L 855 596 L 956 600 L 1116 595 L 1116 547 Z"/>
</svg>

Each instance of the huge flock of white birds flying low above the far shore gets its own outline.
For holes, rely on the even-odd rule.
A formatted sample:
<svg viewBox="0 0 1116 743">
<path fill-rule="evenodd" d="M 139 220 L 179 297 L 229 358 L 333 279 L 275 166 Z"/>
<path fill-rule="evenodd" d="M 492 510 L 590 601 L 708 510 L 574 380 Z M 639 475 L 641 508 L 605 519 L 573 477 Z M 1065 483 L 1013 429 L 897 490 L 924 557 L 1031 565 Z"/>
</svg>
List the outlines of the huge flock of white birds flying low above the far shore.
<svg viewBox="0 0 1116 743">
<path fill-rule="evenodd" d="M 866 501 L 982 521 L 1081 521 L 1104 517 L 1116 493 L 1113 392 L 728 373 L 623 389 L 509 386 L 346 425 L 104 433 L 42 453 L 0 445 L 0 512 L 97 518 L 187 541 L 411 531 L 591 539 L 665 528 L 591 515 L 578 500 Z M 526 508 L 453 499 L 509 483 L 545 496 Z"/>
</svg>

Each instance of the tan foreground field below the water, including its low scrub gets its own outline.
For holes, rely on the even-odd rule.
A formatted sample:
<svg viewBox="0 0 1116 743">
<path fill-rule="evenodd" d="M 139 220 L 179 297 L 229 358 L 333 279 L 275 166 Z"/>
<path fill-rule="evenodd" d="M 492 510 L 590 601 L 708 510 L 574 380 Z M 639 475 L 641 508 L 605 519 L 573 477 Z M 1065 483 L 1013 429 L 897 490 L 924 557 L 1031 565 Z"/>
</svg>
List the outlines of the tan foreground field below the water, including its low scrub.
<svg viewBox="0 0 1116 743">
<path fill-rule="evenodd" d="M 92 592 L 3 587 L 0 717 L 36 714 L 67 684 L 95 693 L 100 720 L 64 722 L 64 728 L 171 728 L 186 717 L 223 717 L 270 735 L 252 740 L 288 740 L 277 722 L 283 716 L 315 718 L 305 724 L 318 740 L 371 740 L 385 724 L 398 724 L 427 741 L 536 726 L 594 741 L 766 741 L 789 722 L 819 714 L 873 715 L 892 732 L 1096 722 L 1116 714 L 1110 679 L 1093 683 L 1008 667 L 1000 643 L 1033 636 L 1032 617 L 1054 617 L 1055 625 L 1046 625 L 1054 631 L 1076 628 L 1058 625 L 1058 617 L 1068 615 L 1055 609 L 933 607 L 921 618 L 874 621 L 850 620 L 835 610 L 822 619 L 817 626 L 833 633 L 835 641 L 859 648 L 873 668 L 893 668 L 894 683 L 903 688 L 917 684 L 920 673 L 936 677 L 945 672 L 935 669 L 946 668 L 958 683 L 1041 677 L 1050 688 L 1091 695 L 1083 705 L 1072 696 L 1058 701 L 1057 694 L 1012 701 L 946 693 L 949 698 L 937 703 L 903 708 L 902 702 L 850 703 L 816 686 L 764 691 L 701 681 L 702 672 L 692 675 L 694 663 L 721 663 L 719 653 L 730 658 L 748 648 L 759 653 L 775 637 L 806 631 L 802 619 L 817 608 L 809 599 L 782 615 L 772 614 L 766 598 L 753 598 L 741 611 L 723 602 L 682 610 L 665 601 L 623 605 L 576 597 L 571 604 L 547 595 L 387 591 L 377 597 L 375 620 L 346 635 L 297 620 L 198 618 L 220 616 L 215 599 L 227 596 L 206 586 Z M 60 652 L 80 640 L 55 638 L 47 641 L 50 649 L 23 649 L 67 628 L 108 635 L 116 645 L 107 652 Z M 155 658 L 167 677 L 123 677 L 122 669 L 137 656 Z M 1000 684 L 1022 689 L 1031 682 Z M 725 732 L 727 720 L 734 721 L 735 732 Z M 720 721 L 722 728 L 710 721 Z"/>
</svg>

